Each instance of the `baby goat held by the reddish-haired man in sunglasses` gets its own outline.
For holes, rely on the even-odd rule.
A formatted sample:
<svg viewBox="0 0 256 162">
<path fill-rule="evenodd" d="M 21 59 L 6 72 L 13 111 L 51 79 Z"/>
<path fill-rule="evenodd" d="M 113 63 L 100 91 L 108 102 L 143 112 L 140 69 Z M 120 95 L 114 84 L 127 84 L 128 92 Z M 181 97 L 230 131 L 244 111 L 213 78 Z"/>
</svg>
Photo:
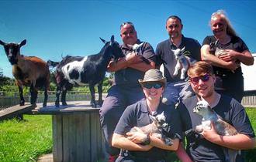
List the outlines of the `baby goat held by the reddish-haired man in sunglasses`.
<svg viewBox="0 0 256 162">
<path fill-rule="evenodd" d="M 199 101 L 195 108 L 194 113 L 202 116 L 202 124 L 195 127 L 195 132 L 201 133 L 203 130 L 211 129 L 211 122 L 216 129 L 216 132 L 222 136 L 234 136 L 237 130 L 226 121 L 222 120 L 220 116 L 209 106 L 206 100 Z M 237 154 L 240 150 L 233 150 L 230 148 L 223 148 L 226 161 L 236 161 Z"/>
</svg>

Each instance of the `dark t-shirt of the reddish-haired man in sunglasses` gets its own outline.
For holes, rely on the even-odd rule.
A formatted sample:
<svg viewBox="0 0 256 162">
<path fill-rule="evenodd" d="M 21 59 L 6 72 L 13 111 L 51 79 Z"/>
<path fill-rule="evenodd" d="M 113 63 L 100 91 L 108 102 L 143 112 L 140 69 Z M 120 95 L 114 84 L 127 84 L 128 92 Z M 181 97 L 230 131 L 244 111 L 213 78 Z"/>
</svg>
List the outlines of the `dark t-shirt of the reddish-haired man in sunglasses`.
<svg viewBox="0 0 256 162">
<path fill-rule="evenodd" d="M 198 102 L 196 96 L 192 96 L 183 103 L 178 105 L 178 111 L 182 119 L 182 130 L 190 130 L 198 126 L 202 122 L 202 116 L 192 112 L 193 108 Z M 227 123 L 233 125 L 237 132 L 247 134 L 249 137 L 255 137 L 254 130 L 251 127 L 250 120 L 244 107 L 229 96 L 222 95 L 219 103 L 213 107 L 213 110 L 223 118 Z M 192 160 L 195 161 L 225 161 L 223 154 L 223 147 L 215 143 L 211 143 L 208 140 L 200 139 L 198 144 L 193 149 L 192 143 L 195 143 L 195 139 L 187 138 L 187 152 L 191 155 Z M 237 162 L 244 161 L 242 156 L 237 156 Z"/>
</svg>

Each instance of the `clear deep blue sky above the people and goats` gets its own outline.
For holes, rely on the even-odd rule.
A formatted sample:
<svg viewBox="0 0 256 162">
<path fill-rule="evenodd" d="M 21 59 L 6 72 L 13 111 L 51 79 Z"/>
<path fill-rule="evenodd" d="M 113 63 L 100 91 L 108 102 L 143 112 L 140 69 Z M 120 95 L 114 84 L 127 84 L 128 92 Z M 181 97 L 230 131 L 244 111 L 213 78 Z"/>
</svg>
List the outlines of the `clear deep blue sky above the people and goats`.
<svg viewBox="0 0 256 162">
<path fill-rule="evenodd" d="M 157 43 L 168 39 L 165 21 L 169 15 L 182 19 L 183 34 L 200 43 L 209 28 L 210 15 L 224 9 L 234 29 L 256 52 L 256 2 L 254 1 L 1 1 L 0 39 L 4 42 L 27 40 L 21 53 L 47 61 L 61 56 L 88 56 L 98 53 L 99 37 L 111 35 L 121 42 L 119 25 L 133 22 L 138 37 Z M 12 66 L 0 47 L 0 68 L 12 77 Z"/>
</svg>

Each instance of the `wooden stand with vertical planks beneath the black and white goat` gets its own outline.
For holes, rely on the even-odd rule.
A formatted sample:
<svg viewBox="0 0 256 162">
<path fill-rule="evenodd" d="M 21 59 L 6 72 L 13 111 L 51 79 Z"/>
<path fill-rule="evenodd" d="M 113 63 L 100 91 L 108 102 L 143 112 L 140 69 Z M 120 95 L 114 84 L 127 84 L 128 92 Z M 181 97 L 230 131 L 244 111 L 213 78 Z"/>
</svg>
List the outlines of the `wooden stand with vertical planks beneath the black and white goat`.
<svg viewBox="0 0 256 162">
<path fill-rule="evenodd" d="M 73 104 L 71 104 L 73 103 Z M 33 111 L 53 115 L 54 161 L 97 161 L 104 157 L 99 123 L 99 108 L 87 101 L 70 102 L 69 106 L 47 106 Z"/>
</svg>

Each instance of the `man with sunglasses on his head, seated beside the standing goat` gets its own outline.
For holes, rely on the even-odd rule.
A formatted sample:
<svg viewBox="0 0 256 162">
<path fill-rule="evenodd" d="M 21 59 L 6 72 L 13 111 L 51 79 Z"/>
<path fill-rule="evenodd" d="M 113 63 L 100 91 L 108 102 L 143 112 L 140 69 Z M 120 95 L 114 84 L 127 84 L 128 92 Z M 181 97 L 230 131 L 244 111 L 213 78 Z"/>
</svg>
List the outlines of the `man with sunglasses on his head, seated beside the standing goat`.
<svg viewBox="0 0 256 162">
<path fill-rule="evenodd" d="M 119 149 L 111 147 L 112 133 L 126 106 L 136 103 L 144 97 L 138 79 L 144 77 L 148 69 L 155 67 L 154 49 L 148 42 L 140 42 L 132 22 L 120 26 L 123 45 L 120 46 L 126 57 L 109 62 L 108 72 L 115 72 L 112 87 L 100 110 L 102 132 L 106 139 L 106 151 L 113 161 L 119 155 Z M 142 44 L 143 43 L 143 44 Z M 137 52 L 132 46 L 141 45 Z M 145 61 L 147 59 L 147 62 Z"/>
</svg>

